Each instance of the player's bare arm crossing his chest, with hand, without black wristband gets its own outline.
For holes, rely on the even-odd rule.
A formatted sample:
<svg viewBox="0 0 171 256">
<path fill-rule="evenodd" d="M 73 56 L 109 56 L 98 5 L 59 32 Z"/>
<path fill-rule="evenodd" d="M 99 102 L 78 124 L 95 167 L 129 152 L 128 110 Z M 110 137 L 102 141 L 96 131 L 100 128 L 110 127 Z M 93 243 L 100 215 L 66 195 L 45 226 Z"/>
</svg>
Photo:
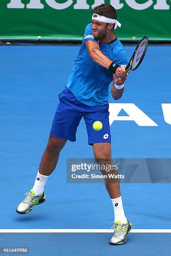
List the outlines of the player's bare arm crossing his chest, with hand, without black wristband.
<svg viewBox="0 0 171 256">
<path fill-rule="evenodd" d="M 102 51 L 100 51 L 99 44 L 94 41 L 87 40 L 85 42 L 85 45 L 89 52 L 89 57 L 93 61 L 95 61 L 97 64 L 105 67 L 106 69 L 109 69 L 109 66 L 113 63 L 113 61 L 111 59 L 109 59 L 105 54 L 103 54 Z M 116 69 L 115 74 L 116 74 L 116 77 L 126 77 L 127 76 L 127 73 L 125 72 L 124 67 L 118 67 Z"/>
</svg>

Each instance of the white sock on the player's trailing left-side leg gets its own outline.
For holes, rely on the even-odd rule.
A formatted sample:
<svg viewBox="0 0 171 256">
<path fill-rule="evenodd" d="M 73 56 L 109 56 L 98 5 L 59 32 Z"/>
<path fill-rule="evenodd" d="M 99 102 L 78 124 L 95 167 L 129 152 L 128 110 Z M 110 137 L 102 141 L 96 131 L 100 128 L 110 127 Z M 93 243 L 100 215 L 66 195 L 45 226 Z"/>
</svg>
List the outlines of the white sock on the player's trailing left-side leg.
<svg viewBox="0 0 171 256">
<path fill-rule="evenodd" d="M 32 188 L 32 190 L 35 192 L 35 195 L 42 195 L 48 177 L 49 176 L 40 174 L 39 171 L 37 172 L 35 184 Z"/>
</svg>

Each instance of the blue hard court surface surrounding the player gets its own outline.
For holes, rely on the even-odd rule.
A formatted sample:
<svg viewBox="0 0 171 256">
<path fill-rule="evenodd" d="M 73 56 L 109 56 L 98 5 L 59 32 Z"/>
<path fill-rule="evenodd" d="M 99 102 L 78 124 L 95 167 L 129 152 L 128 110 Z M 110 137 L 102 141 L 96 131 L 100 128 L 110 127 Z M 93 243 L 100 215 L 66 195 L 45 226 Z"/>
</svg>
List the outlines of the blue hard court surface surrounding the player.
<svg viewBox="0 0 171 256">
<path fill-rule="evenodd" d="M 134 46 L 126 46 L 128 59 Z M 114 212 L 104 184 L 69 184 L 67 158 L 93 158 L 84 120 L 77 141 L 67 141 L 50 176 L 47 201 L 28 215 L 17 204 L 32 188 L 52 119 L 74 65 L 79 46 L 1 46 L 1 211 L 0 247 L 29 247 L 30 255 L 169 255 L 171 184 L 121 184 L 126 217 L 133 231 L 123 246 L 109 246 L 112 233 L 22 233 L 21 229 L 110 229 Z M 156 125 L 115 120 L 111 125 L 113 158 L 170 158 L 171 125 L 161 104 L 171 104 L 171 46 L 149 46 L 141 67 L 130 72 L 123 97 L 109 103 L 133 103 Z M 160 64 L 160 65 L 159 65 Z M 156 68 L 157 66 L 157 68 Z M 168 108 L 169 109 L 169 108 Z M 126 109 L 120 116 L 127 115 Z M 169 110 L 168 110 L 169 111 Z M 167 114 L 168 116 L 168 114 Z M 161 170 L 162 171 L 162 170 Z M 15 229 L 19 233 L 6 233 Z M 141 233 L 141 230 L 154 233 Z"/>
</svg>

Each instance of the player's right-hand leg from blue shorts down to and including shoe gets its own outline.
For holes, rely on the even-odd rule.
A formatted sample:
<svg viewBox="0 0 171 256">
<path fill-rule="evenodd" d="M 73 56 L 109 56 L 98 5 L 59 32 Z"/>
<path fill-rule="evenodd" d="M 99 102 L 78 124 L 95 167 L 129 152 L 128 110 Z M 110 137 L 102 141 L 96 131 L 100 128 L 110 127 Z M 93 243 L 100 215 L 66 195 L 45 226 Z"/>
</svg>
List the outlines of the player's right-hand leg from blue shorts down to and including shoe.
<svg viewBox="0 0 171 256">
<path fill-rule="evenodd" d="M 98 108 L 89 107 L 87 108 L 89 112 L 84 116 L 88 134 L 88 143 L 89 145 L 93 145 L 94 157 L 99 164 L 112 164 L 108 108 L 109 104 Z M 103 128 L 100 131 L 94 131 L 92 127 L 93 123 L 97 120 L 103 124 Z M 115 171 L 110 170 L 110 172 L 113 173 Z M 111 197 L 115 215 L 114 235 L 110 240 L 110 244 L 122 244 L 126 241 L 126 234 L 131 230 L 131 223 L 127 221 L 124 214 L 119 180 L 114 179 L 114 182 L 111 182 L 111 180 L 105 179 L 105 185 Z"/>
</svg>

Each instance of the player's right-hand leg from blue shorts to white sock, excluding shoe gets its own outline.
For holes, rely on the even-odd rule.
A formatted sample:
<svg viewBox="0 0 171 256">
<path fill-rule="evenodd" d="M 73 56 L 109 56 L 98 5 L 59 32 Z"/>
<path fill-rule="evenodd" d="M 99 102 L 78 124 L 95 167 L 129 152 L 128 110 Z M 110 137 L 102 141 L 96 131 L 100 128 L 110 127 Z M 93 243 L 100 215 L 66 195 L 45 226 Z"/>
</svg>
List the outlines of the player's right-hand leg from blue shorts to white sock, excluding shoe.
<svg viewBox="0 0 171 256">
<path fill-rule="evenodd" d="M 96 111 L 96 108 L 94 109 Z M 97 108 L 97 110 L 101 112 L 90 112 L 90 110 L 89 113 L 84 116 L 88 134 L 88 143 L 93 145 L 94 157 L 97 159 L 98 164 L 111 165 L 113 163 L 111 157 L 111 134 L 108 108 L 107 106 Z M 103 124 L 103 128 L 100 131 L 94 131 L 92 127 L 93 123 L 97 120 Z M 116 171 L 111 169 L 110 172 L 114 173 Z M 114 206 L 115 221 L 125 223 L 126 217 L 122 206 L 119 179 L 105 179 L 105 185 Z"/>
</svg>

